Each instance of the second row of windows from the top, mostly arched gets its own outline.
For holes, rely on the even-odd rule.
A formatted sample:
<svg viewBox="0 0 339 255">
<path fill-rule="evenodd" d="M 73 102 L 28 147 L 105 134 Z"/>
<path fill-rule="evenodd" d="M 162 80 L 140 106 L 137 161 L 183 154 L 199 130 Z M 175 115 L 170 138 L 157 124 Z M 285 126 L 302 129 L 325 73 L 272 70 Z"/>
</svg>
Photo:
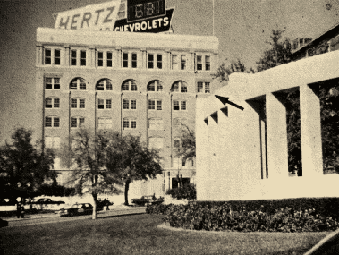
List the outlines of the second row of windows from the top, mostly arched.
<svg viewBox="0 0 339 255">
<path fill-rule="evenodd" d="M 86 90 L 88 82 L 83 78 L 75 78 L 70 83 L 72 90 Z M 45 89 L 60 89 L 60 78 L 45 77 Z M 123 81 L 122 91 L 138 91 L 137 83 L 134 80 Z M 101 79 L 97 82 L 96 90 L 113 90 L 112 81 Z M 162 92 L 162 81 L 150 81 L 147 86 L 148 92 Z M 187 93 L 187 83 L 185 81 L 175 81 L 172 85 L 171 92 Z M 209 82 L 197 82 L 198 93 L 210 93 Z"/>
</svg>

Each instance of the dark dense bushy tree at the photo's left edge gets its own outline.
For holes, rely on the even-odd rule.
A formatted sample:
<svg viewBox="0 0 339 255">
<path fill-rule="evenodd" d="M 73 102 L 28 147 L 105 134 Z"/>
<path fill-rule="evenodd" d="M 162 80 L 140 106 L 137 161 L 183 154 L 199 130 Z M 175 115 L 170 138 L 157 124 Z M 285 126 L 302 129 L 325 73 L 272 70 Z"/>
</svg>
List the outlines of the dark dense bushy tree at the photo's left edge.
<svg viewBox="0 0 339 255">
<path fill-rule="evenodd" d="M 31 136 L 30 130 L 19 128 L 13 132 L 12 144 L 0 148 L 0 184 L 7 196 L 28 197 L 42 184 L 56 183 L 57 173 L 51 171 L 54 151 L 39 149 L 39 143 L 33 146 Z"/>
</svg>

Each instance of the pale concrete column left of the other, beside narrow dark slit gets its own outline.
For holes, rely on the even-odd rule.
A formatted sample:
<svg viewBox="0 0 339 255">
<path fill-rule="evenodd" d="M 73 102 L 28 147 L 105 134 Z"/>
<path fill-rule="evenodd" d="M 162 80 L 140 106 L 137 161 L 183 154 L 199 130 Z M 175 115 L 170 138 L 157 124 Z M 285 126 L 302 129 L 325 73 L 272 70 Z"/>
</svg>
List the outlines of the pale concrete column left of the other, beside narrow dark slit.
<svg viewBox="0 0 339 255">
<path fill-rule="evenodd" d="M 286 108 L 277 96 L 266 95 L 268 178 L 288 177 Z"/>
</svg>

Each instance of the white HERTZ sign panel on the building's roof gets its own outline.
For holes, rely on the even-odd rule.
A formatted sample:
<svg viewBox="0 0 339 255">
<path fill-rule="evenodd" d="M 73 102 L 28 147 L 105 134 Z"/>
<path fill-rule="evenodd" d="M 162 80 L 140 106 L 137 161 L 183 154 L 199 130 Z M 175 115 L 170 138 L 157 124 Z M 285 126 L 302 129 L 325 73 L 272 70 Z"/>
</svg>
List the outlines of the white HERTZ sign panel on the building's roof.
<svg viewBox="0 0 339 255">
<path fill-rule="evenodd" d="M 55 29 L 112 31 L 121 0 L 56 13 Z"/>
</svg>

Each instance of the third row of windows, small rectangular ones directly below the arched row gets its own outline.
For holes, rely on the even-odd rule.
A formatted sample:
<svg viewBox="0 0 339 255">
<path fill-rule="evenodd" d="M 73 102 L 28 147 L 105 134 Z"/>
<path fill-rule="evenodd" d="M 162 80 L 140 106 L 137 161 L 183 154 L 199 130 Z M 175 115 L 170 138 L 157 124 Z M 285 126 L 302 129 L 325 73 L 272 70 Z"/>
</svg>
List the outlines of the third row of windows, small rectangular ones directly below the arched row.
<svg viewBox="0 0 339 255">
<path fill-rule="evenodd" d="M 71 98 L 71 108 L 85 109 L 85 98 Z M 184 111 L 187 109 L 186 101 L 184 100 L 173 100 L 174 111 Z M 60 98 L 45 98 L 46 108 L 60 108 Z M 97 109 L 112 109 L 112 99 L 99 98 L 97 99 Z M 124 110 L 136 110 L 137 100 L 133 98 L 123 99 Z M 161 111 L 162 100 L 161 99 L 149 99 L 148 110 Z"/>
</svg>

